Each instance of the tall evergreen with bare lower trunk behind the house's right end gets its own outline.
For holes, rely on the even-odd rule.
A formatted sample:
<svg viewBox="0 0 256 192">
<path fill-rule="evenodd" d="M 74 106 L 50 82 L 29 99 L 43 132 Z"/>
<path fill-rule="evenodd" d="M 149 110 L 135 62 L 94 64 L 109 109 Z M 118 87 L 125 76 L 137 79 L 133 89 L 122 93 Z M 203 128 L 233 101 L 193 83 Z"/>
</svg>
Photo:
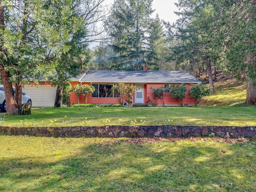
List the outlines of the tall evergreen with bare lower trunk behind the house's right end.
<svg viewBox="0 0 256 192">
<path fill-rule="evenodd" d="M 204 60 L 209 84 L 214 90 L 212 63 L 215 62 L 213 57 L 215 52 L 212 46 L 212 30 L 214 30 L 212 20 L 215 12 L 212 3 L 207 0 L 179 0 L 176 5 L 182 8 L 178 13 L 181 18 L 176 23 L 178 28 L 176 36 L 180 38 L 182 44 L 178 45 L 177 49 L 182 50 L 189 65 L 190 61 L 195 61 L 196 58 Z"/>
</svg>

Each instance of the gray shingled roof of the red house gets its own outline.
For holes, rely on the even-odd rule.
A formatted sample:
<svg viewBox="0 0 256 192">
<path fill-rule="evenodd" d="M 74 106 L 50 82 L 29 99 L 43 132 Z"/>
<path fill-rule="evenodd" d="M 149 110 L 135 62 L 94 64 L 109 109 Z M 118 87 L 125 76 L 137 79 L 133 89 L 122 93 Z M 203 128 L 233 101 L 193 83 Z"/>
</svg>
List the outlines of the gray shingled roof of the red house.
<svg viewBox="0 0 256 192">
<path fill-rule="evenodd" d="M 185 71 L 104 71 L 89 70 L 71 81 L 93 83 L 201 83 Z"/>
</svg>

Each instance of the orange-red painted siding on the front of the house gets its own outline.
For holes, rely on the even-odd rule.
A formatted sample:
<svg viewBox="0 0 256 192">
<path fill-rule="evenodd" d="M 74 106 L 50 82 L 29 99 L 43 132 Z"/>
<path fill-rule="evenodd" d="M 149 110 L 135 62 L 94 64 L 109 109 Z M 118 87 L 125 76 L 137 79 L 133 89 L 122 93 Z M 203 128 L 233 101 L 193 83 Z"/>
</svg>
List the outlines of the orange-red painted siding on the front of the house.
<svg viewBox="0 0 256 192">
<path fill-rule="evenodd" d="M 78 82 L 70 82 L 70 83 L 71 83 L 72 86 L 78 84 Z M 82 84 L 90 85 L 90 83 L 82 83 Z M 94 82 L 92 82 L 92 84 L 94 84 Z M 101 84 L 101 83 L 96 83 L 96 84 Z M 113 84 L 113 83 L 102 83 L 102 84 Z M 192 85 L 191 84 L 187 84 L 187 85 L 188 85 L 187 92 L 189 92 L 190 87 Z M 150 97 L 151 100 L 154 100 L 152 91 L 150 90 L 150 87 L 158 88 L 158 86 L 164 86 L 164 83 L 144 84 L 144 103 L 147 102 L 148 97 Z M 80 95 L 79 99 L 80 99 L 80 103 L 85 103 L 84 96 Z M 73 92 L 71 93 L 70 101 L 73 104 L 78 103 L 78 98 Z M 134 102 L 134 100 L 133 100 L 133 102 Z M 118 99 L 117 98 L 93 98 L 92 95 L 89 94 L 88 99 L 87 99 L 87 103 L 114 104 L 114 103 L 118 103 Z M 157 99 L 156 103 L 158 104 L 158 106 L 163 105 L 162 100 L 160 100 L 160 99 Z M 150 103 L 148 103 L 148 104 L 151 105 Z M 186 93 L 186 97 L 183 99 L 183 105 L 184 106 L 194 106 L 195 105 L 194 99 L 189 97 L 188 93 Z M 178 102 L 178 100 L 170 97 L 169 93 L 166 93 L 166 96 L 164 98 L 164 106 L 180 106 L 180 103 Z"/>
</svg>

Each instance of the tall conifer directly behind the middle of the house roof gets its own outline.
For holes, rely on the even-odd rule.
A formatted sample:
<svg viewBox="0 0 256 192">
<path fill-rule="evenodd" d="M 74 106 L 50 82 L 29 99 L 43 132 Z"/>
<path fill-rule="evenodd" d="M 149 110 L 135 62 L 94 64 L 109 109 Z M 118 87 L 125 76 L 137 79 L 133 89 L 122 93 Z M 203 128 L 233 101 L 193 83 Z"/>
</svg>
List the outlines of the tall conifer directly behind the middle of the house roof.
<svg viewBox="0 0 256 192">
<path fill-rule="evenodd" d="M 118 0 L 105 23 L 116 69 L 135 70 L 146 64 L 147 30 L 152 14 L 152 0 Z"/>
</svg>

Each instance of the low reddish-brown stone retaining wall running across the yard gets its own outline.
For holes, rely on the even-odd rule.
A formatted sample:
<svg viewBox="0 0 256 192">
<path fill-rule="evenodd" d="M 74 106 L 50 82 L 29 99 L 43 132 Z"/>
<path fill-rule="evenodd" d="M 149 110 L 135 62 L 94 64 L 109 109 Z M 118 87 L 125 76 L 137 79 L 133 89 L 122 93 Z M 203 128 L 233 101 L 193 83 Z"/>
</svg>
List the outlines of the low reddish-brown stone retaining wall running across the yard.
<svg viewBox="0 0 256 192">
<path fill-rule="evenodd" d="M 256 126 L 82 126 L 82 127 L 7 127 L 0 134 L 32 136 L 92 137 L 174 137 L 211 136 L 223 138 L 256 138 Z"/>
</svg>

